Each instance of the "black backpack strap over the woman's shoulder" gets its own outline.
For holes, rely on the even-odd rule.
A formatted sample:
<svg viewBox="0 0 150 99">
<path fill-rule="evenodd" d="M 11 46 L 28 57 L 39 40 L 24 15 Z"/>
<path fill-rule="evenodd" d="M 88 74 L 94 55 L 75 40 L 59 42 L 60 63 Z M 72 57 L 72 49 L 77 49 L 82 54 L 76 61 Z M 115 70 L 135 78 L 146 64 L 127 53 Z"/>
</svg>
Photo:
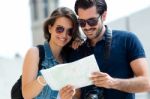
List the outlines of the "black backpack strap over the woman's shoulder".
<svg viewBox="0 0 150 99">
<path fill-rule="evenodd" d="M 45 58 L 45 50 L 44 50 L 44 46 L 43 45 L 37 45 L 37 48 L 39 49 L 39 58 L 40 58 L 39 70 L 41 70 L 42 69 L 42 67 L 41 67 L 42 61 Z"/>
</svg>

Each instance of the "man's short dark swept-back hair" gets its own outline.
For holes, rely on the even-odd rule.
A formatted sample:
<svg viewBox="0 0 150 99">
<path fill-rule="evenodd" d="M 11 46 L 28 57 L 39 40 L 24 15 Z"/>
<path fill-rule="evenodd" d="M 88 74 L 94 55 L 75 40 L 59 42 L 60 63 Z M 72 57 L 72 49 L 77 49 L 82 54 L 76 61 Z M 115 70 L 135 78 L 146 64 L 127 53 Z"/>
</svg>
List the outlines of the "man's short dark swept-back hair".
<svg viewBox="0 0 150 99">
<path fill-rule="evenodd" d="M 105 0 L 76 0 L 75 1 L 75 12 L 78 15 L 78 9 L 88 9 L 93 6 L 96 6 L 97 13 L 102 15 L 105 11 L 107 11 L 107 4 Z"/>
</svg>

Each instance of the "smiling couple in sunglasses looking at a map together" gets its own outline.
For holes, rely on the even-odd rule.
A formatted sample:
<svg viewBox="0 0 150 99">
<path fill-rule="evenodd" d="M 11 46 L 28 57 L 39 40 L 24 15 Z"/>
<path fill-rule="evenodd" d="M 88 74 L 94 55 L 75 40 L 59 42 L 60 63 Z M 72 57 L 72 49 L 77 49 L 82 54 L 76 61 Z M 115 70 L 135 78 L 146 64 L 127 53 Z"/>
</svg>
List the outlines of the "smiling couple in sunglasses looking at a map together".
<svg viewBox="0 0 150 99">
<path fill-rule="evenodd" d="M 144 49 L 133 34 L 112 30 L 110 55 L 104 60 L 107 16 L 105 0 L 76 0 L 75 12 L 66 7 L 57 8 L 44 24 L 45 59 L 43 68 L 94 54 L 101 72 L 94 72 L 93 85 L 81 89 L 64 86 L 51 90 L 38 71 L 39 51 L 30 48 L 25 56 L 22 74 L 22 91 L 25 99 L 135 99 L 135 92 L 149 90 L 148 64 Z M 77 49 L 70 46 L 80 39 L 78 24 L 87 39 Z M 77 46 L 80 43 L 77 43 Z M 76 44 L 74 44 L 76 47 Z M 98 96 L 91 96 L 98 92 Z M 100 96 L 100 94 L 102 96 Z M 98 97 L 98 98 L 96 98 Z"/>
</svg>

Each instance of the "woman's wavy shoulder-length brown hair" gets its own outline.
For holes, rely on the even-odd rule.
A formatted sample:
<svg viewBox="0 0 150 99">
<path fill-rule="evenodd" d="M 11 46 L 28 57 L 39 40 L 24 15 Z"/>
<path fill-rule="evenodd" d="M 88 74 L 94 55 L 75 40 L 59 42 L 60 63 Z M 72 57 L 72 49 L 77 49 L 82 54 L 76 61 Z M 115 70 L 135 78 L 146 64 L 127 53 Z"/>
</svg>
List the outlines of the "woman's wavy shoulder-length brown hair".
<svg viewBox="0 0 150 99">
<path fill-rule="evenodd" d="M 50 38 L 51 38 L 51 35 L 49 33 L 49 30 L 48 30 L 48 26 L 49 25 L 53 26 L 55 24 L 55 21 L 59 17 L 66 17 L 66 18 L 70 19 L 71 22 L 73 23 L 73 35 L 72 35 L 71 42 L 76 37 L 80 36 L 80 34 L 79 34 L 79 26 L 78 26 L 77 17 L 75 15 L 75 13 L 70 8 L 59 7 L 57 9 L 55 9 L 51 13 L 51 15 L 48 17 L 48 19 L 44 22 L 43 31 L 44 31 L 44 37 L 45 37 L 45 39 L 47 41 L 49 41 Z"/>
</svg>

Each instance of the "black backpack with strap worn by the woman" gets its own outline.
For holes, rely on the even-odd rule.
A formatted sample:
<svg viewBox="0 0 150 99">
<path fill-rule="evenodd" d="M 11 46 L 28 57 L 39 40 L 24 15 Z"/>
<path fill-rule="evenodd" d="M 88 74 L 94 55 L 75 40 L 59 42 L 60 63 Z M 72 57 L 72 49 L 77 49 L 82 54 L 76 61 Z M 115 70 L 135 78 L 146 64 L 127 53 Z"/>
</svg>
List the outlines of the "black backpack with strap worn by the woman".
<svg viewBox="0 0 150 99">
<path fill-rule="evenodd" d="M 37 45 L 37 48 L 39 49 L 39 70 L 41 70 L 41 63 L 44 60 L 45 52 L 44 52 L 44 46 L 43 45 Z M 22 96 L 22 84 L 21 84 L 22 76 L 16 81 L 16 83 L 13 85 L 11 89 L 11 99 L 24 99 Z"/>
</svg>

